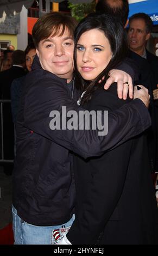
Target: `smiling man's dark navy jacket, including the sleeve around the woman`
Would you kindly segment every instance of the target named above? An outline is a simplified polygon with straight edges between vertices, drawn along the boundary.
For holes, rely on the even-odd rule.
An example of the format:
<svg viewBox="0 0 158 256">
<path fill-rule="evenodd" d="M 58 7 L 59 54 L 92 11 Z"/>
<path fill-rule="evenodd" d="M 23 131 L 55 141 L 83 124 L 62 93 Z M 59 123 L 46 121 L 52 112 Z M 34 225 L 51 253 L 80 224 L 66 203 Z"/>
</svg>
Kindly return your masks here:
<svg viewBox="0 0 158 256">
<path fill-rule="evenodd" d="M 69 150 L 85 158 L 97 156 L 150 125 L 148 110 L 137 99 L 109 113 L 107 136 L 98 136 L 97 130 L 50 130 L 49 114 L 61 112 L 62 106 L 77 113 L 81 109 L 71 99 L 66 80 L 43 70 L 35 57 L 17 116 L 13 173 L 17 214 L 34 225 L 58 225 L 72 216 L 75 190 Z"/>
</svg>

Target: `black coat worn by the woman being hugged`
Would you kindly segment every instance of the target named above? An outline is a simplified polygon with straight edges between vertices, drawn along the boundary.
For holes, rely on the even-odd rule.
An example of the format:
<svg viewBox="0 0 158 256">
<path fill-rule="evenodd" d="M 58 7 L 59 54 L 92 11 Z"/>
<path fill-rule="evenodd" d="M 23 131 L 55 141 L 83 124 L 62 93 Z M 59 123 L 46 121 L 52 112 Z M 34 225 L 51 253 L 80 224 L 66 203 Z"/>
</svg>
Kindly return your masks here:
<svg viewBox="0 0 158 256">
<path fill-rule="evenodd" d="M 124 104 L 113 84 L 108 92 L 97 90 L 84 107 L 112 111 Z M 158 210 L 144 135 L 101 157 L 75 156 L 74 173 L 75 221 L 67 234 L 72 244 L 158 244 Z"/>
</svg>

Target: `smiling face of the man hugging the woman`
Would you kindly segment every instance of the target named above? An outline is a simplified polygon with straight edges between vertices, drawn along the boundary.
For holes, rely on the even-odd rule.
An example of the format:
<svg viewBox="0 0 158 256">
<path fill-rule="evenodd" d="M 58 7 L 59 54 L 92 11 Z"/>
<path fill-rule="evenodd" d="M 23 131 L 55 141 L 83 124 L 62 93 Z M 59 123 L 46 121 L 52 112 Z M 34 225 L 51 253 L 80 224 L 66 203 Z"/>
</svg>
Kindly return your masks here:
<svg viewBox="0 0 158 256">
<path fill-rule="evenodd" d="M 67 28 L 60 36 L 61 31 L 62 27 L 57 35 L 52 36 L 52 33 L 49 38 L 41 40 L 36 53 L 43 69 L 70 82 L 73 76 L 74 41 Z"/>
</svg>

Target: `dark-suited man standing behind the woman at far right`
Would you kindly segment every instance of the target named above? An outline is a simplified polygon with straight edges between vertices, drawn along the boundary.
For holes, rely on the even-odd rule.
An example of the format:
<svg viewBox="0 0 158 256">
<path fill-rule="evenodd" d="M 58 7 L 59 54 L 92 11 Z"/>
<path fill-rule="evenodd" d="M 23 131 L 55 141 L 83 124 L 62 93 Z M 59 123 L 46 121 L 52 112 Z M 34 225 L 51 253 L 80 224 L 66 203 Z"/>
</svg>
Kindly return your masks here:
<svg viewBox="0 0 158 256">
<path fill-rule="evenodd" d="M 129 19 L 128 40 L 130 50 L 146 59 L 150 65 L 151 86 L 154 96 L 154 110 L 156 112 L 155 120 L 157 130 L 157 137 L 154 138 L 155 141 L 157 141 L 157 149 L 155 153 L 156 163 L 154 170 L 158 172 L 158 57 L 150 53 L 146 48 L 147 41 L 151 37 L 152 29 L 153 21 L 150 19 L 150 16 L 145 13 L 136 13 Z M 154 146 L 154 143 L 152 146 Z"/>
</svg>

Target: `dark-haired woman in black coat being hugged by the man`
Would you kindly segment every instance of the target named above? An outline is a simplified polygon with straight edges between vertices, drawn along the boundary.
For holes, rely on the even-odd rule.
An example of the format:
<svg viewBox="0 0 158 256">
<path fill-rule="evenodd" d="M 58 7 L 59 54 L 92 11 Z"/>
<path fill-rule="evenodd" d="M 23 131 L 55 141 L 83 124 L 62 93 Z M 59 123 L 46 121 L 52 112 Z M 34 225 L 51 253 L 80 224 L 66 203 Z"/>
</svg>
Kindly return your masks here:
<svg viewBox="0 0 158 256">
<path fill-rule="evenodd" d="M 121 23 L 110 16 L 90 15 L 79 23 L 74 39 L 76 85 L 83 92 L 79 104 L 89 111 L 123 107 L 130 99 L 118 99 L 115 83 L 108 91 L 103 89 L 109 70 L 127 53 Z M 144 134 L 101 157 L 74 156 L 74 168 L 75 221 L 59 244 L 158 243 L 158 212 Z"/>
</svg>

